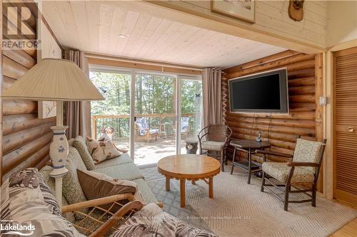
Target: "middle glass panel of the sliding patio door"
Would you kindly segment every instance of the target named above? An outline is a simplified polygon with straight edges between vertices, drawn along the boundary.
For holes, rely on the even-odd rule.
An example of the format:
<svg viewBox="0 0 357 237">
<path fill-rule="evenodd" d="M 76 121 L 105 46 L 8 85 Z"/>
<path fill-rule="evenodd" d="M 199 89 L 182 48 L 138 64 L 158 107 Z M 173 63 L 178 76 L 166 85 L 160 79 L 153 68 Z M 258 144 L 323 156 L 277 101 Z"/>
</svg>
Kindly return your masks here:
<svg viewBox="0 0 357 237">
<path fill-rule="evenodd" d="M 139 165 L 176 154 L 176 77 L 137 73 L 134 156 Z"/>
</svg>

